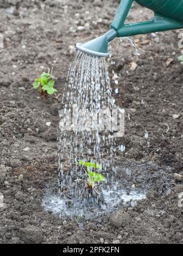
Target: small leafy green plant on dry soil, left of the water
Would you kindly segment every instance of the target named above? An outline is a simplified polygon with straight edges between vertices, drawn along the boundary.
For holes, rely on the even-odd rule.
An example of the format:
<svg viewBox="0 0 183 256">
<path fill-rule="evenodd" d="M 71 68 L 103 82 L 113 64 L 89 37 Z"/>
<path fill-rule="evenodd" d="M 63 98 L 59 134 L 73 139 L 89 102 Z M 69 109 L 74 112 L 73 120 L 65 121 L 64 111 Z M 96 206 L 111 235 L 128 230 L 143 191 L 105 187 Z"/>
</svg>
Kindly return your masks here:
<svg viewBox="0 0 183 256">
<path fill-rule="evenodd" d="M 37 89 L 41 97 L 55 94 L 57 90 L 54 88 L 55 81 L 49 73 L 42 73 L 40 78 L 35 79 L 33 83 L 34 89 Z"/>
</svg>

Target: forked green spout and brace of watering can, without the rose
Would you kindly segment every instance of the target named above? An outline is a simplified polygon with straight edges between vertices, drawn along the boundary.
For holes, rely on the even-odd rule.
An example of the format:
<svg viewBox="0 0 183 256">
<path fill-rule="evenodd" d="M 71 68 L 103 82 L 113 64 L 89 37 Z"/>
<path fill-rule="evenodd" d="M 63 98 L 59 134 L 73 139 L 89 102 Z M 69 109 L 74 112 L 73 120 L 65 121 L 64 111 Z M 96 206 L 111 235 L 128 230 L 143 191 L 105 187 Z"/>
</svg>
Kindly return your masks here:
<svg viewBox="0 0 183 256">
<path fill-rule="evenodd" d="M 166 31 L 183 28 L 183 22 L 165 17 L 159 13 L 154 14 L 154 18 L 149 21 L 142 21 L 131 24 L 124 24 L 127 14 L 131 9 L 134 0 L 121 0 L 111 28 L 115 29 L 118 37 L 135 36 L 151 32 Z"/>
</svg>

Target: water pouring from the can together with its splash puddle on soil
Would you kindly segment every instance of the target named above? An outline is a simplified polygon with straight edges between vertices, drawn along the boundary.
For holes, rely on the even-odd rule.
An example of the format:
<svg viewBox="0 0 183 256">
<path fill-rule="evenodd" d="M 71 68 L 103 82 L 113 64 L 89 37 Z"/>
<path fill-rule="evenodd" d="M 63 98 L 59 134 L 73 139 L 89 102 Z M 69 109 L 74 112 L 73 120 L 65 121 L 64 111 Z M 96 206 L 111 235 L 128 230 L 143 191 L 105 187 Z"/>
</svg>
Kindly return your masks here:
<svg viewBox="0 0 183 256">
<path fill-rule="evenodd" d="M 113 167 L 117 150 L 125 150 L 124 146 L 124 150 L 117 146 L 116 140 L 118 118 L 124 116 L 124 110 L 112 98 L 105 58 L 77 51 L 68 72 L 59 116 L 60 197 L 50 198 L 48 189 L 43 205 L 55 209 L 60 216 L 70 217 L 98 216 L 112 211 L 125 198 L 125 193 L 121 196 L 124 189 L 120 173 L 117 175 Z M 105 181 L 88 189 L 88 170 L 79 165 L 79 160 L 100 165 L 102 168 L 92 171 L 101 173 Z M 115 197 L 117 204 L 112 204 Z"/>
</svg>

